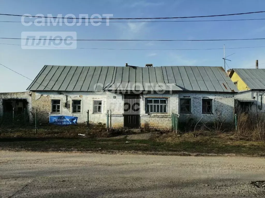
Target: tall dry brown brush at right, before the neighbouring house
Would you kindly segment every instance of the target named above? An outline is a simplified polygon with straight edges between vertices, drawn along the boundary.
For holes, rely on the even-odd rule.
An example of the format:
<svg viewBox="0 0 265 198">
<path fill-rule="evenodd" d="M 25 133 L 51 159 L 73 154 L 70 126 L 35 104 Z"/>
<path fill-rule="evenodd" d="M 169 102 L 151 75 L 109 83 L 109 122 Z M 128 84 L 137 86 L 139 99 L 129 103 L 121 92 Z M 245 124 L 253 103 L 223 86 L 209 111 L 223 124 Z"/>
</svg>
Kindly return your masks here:
<svg viewBox="0 0 265 198">
<path fill-rule="evenodd" d="M 237 130 L 234 136 L 238 138 L 265 141 L 265 115 L 253 113 L 239 113 L 237 118 Z"/>
</svg>

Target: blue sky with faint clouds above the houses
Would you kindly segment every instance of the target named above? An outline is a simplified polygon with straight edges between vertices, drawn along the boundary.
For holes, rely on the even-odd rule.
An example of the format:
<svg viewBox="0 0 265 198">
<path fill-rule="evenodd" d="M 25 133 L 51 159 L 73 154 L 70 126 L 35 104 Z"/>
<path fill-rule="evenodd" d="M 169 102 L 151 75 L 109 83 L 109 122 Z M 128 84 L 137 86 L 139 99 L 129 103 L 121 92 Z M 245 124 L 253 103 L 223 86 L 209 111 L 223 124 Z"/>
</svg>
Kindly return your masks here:
<svg viewBox="0 0 265 198">
<path fill-rule="evenodd" d="M 264 11 L 263 0 L 102 0 L 102 1 L 1 1 L 0 13 L 8 14 L 113 14 L 121 17 L 176 17 L 219 15 Z M 205 19 L 265 18 L 265 13 L 225 16 Z M 0 21 L 20 21 L 20 17 L 0 16 Z M 146 20 L 148 21 L 148 20 Z M 0 23 L 0 37 L 21 37 L 23 31 L 76 31 L 77 39 L 241 39 L 265 37 L 265 20 L 226 22 L 161 22 L 161 23 L 110 23 L 106 26 L 23 26 L 21 23 Z M 20 44 L 20 40 L 0 39 L 0 43 Z M 129 48 L 129 49 L 194 49 L 265 46 L 264 40 L 250 41 L 78 41 L 78 48 Z M 232 62 L 230 68 L 265 63 L 265 48 L 227 49 Z M 34 79 L 43 65 L 124 66 L 125 63 L 144 66 L 196 65 L 223 66 L 223 50 L 162 51 L 162 50 L 90 50 L 45 49 L 25 50 L 21 46 L 0 44 L 0 63 Z M 254 67 L 252 67 L 254 68 Z M 260 65 L 265 68 L 265 64 Z M 25 91 L 30 80 L 0 65 L 0 92 Z"/>
</svg>

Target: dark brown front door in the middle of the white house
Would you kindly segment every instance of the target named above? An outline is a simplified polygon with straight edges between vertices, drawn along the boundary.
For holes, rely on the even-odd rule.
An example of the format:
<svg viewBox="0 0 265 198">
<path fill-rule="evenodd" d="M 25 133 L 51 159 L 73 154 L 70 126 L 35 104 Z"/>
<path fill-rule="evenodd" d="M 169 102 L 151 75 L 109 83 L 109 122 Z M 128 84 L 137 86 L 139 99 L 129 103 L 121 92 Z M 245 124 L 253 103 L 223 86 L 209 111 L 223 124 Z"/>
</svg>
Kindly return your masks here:
<svg viewBox="0 0 265 198">
<path fill-rule="evenodd" d="M 124 126 L 139 128 L 140 101 L 139 95 L 124 96 Z"/>
</svg>

